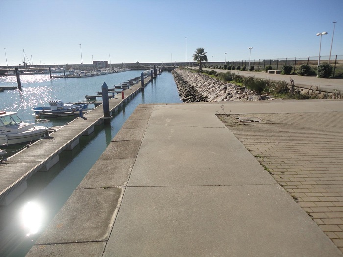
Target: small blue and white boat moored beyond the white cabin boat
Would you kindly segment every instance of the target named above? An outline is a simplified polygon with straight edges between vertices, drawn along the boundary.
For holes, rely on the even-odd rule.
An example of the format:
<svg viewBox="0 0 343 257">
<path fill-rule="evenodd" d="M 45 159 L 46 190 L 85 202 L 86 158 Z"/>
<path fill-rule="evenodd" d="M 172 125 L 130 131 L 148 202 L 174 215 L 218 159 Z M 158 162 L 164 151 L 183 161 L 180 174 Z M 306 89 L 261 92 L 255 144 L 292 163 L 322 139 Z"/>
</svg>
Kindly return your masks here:
<svg viewBox="0 0 343 257">
<path fill-rule="evenodd" d="M 75 112 L 87 109 L 88 103 L 63 103 L 61 100 L 51 100 L 48 102 L 50 106 L 46 107 L 33 107 L 31 110 L 35 114 L 44 114 L 44 113 L 65 113 L 65 112 Z"/>
</svg>

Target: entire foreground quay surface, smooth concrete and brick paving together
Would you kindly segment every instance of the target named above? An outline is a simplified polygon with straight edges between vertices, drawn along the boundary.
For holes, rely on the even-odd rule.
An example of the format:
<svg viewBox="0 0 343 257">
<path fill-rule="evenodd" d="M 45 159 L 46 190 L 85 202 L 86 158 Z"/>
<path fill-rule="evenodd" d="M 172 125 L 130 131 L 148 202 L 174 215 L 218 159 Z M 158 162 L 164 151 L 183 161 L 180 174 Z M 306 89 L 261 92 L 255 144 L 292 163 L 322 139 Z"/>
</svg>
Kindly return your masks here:
<svg viewBox="0 0 343 257">
<path fill-rule="evenodd" d="M 342 114 L 342 100 L 139 105 L 27 257 L 342 257 Z"/>
</svg>

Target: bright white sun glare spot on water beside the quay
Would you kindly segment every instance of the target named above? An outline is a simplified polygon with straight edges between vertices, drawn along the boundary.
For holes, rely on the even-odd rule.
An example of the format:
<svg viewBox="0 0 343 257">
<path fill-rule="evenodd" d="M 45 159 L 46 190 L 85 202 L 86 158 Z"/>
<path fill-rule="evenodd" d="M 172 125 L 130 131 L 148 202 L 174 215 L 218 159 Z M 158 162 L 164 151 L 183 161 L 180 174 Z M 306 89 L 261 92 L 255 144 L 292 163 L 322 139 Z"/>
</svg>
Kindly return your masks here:
<svg viewBox="0 0 343 257">
<path fill-rule="evenodd" d="M 20 223 L 26 236 L 36 234 L 43 224 L 43 208 L 35 202 L 28 202 L 20 211 Z"/>
</svg>

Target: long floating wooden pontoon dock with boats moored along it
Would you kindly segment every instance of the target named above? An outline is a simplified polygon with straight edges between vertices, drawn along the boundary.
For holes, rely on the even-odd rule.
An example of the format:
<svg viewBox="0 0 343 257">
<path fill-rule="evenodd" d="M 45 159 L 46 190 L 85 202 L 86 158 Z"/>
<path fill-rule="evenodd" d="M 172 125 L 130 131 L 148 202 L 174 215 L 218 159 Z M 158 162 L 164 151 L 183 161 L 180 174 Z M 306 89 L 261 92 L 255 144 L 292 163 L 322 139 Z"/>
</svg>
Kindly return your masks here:
<svg viewBox="0 0 343 257">
<path fill-rule="evenodd" d="M 144 79 L 144 86 L 151 78 Z M 101 85 L 99 85 L 101 87 Z M 126 91 L 125 99 L 115 97 L 109 100 L 110 113 L 118 110 L 123 103 L 132 99 L 141 91 L 141 82 Z M 95 96 L 95 98 L 98 96 Z M 79 138 L 90 135 L 94 126 L 104 122 L 103 108 L 98 106 L 85 113 L 83 118 L 76 118 L 48 137 L 38 140 L 29 148 L 11 156 L 0 164 L 0 205 L 8 205 L 27 188 L 26 180 L 37 171 L 47 171 L 59 161 L 59 154 L 72 150 Z"/>
</svg>

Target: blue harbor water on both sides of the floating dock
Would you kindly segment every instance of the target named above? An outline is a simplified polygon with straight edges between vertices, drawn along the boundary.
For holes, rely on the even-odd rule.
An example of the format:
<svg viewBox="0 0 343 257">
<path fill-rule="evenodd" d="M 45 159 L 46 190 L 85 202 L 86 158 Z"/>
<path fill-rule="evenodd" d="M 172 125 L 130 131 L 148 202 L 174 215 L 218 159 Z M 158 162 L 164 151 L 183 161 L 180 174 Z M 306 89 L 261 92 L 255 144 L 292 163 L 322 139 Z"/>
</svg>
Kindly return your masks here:
<svg viewBox="0 0 343 257">
<path fill-rule="evenodd" d="M 101 91 L 140 76 L 142 71 L 126 71 L 97 77 L 50 79 L 49 75 L 21 76 L 22 90 L 0 92 L 0 110 L 16 111 L 22 120 L 33 119 L 32 107 L 48 106 L 50 99 L 77 102 L 85 95 Z M 16 77 L 0 77 L 0 88 L 16 86 Z M 101 99 L 101 98 L 99 98 Z M 0 256 L 25 256 L 74 189 L 98 160 L 112 138 L 137 105 L 181 103 L 172 73 L 163 72 L 145 90 L 121 107 L 110 125 L 95 127 L 90 136 L 80 138 L 72 151 L 60 154 L 60 162 L 47 172 L 37 172 L 27 180 L 26 191 L 8 206 L 0 206 Z M 101 108 L 101 107 L 100 107 Z M 71 118 L 50 119 L 50 126 L 63 125 Z M 7 150 L 6 150 L 7 151 Z M 1 165 L 0 165 L 1 171 Z"/>
</svg>

